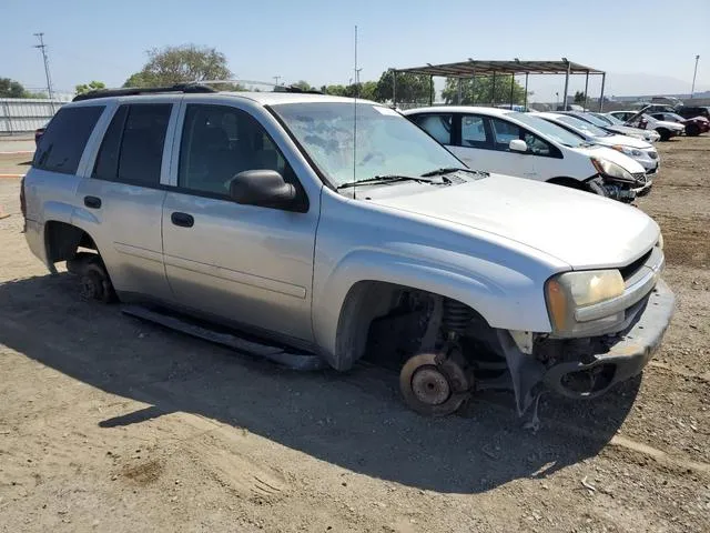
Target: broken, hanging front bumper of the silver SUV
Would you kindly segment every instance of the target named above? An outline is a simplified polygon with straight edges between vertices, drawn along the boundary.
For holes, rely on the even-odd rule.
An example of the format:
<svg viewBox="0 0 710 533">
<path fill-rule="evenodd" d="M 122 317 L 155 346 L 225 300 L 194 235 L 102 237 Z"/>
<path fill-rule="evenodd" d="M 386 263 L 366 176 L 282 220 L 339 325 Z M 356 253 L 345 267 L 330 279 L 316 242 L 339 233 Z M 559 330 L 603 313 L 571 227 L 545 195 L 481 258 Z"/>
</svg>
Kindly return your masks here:
<svg viewBox="0 0 710 533">
<path fill-rule="evenodd" d="M 576 361 L 549 366 L 542 382 L 567 398 L 595 398 L 611 386 L 641 373 L 668 329 L 676 298 L 668 285 L 658 280 L 649 298 L 641 303 L 635 320 L 622 332 L 589 343 Z"/>
</svg>

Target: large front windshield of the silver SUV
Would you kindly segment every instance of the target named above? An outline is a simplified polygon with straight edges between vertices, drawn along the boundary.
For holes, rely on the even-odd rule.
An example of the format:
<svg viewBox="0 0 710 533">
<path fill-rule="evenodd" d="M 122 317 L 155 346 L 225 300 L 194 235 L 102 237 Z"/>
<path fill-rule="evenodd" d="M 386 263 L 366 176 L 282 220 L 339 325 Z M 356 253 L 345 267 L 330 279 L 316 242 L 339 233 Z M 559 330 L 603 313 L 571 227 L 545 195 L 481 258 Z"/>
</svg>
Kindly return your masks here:
<svg viewBox="0 0 710 533">
<path fill-rule="evenodd" d="M 354 112 L 357 105 L 357 143 Z M 336 187 L 375 177 L 420 177 L 464 164 L 396 111 L 372 103 L 274 104 L 274 111 Z M 355 161 L 355 164 L 353 164 Z"/>
</svg>

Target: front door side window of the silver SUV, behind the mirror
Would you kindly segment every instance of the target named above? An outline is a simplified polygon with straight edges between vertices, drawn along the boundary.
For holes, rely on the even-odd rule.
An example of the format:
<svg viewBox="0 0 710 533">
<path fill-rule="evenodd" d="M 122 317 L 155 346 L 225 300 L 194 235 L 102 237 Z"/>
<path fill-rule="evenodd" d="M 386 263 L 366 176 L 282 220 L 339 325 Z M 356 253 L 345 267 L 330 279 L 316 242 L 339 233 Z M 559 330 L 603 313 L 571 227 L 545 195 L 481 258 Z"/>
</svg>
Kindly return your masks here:
<svg viewBox="0 0 710 533">
<path fill-rule="evenodd" d="M 295 184 L 293 171 L 262 125 L 225 105 L 187 105 L 180 147 L 178 185 L 226 195 L 245 170 L 275 170 Z"/>
</svg>

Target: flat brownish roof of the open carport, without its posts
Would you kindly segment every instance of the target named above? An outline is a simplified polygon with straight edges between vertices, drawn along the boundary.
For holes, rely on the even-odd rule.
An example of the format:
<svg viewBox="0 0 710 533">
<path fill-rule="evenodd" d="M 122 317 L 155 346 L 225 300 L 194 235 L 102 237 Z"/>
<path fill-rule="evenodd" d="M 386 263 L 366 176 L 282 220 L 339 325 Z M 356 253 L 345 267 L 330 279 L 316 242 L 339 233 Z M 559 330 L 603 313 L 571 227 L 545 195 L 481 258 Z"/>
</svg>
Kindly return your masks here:
<svg viewBox="0 0 710 533">
<path fill-rule="evenodd" d="M 469 59 L 458 63 L 429 64 L 409 69 L 395 69 L 396 72 L 412 74 L 443 76 L 448 78 L 470 78 L 473 76 L 496 74 L 565 74 L 567 66 L 572 74 L 604 74 L 598 70 L 572 61 L 479 61 Z"/>
</svg>

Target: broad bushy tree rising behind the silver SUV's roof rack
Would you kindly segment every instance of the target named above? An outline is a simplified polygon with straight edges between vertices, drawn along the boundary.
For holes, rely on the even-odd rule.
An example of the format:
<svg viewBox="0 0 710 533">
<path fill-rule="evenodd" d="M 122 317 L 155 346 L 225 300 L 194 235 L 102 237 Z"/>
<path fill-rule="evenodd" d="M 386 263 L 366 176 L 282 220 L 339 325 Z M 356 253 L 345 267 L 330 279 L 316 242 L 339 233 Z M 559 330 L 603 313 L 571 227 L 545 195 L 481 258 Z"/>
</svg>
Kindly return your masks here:
<svg viewBox="0 0 710 533">
<path fill-rule="evenodd" d="M 165 87 L 206 80 L 229 80 L 226 56 L 214 48 L 183 44 L 146 51 L 148 62 L 123 87 Z M 223 89 L 223 84 L 220 84 Z"/>
</svg>

